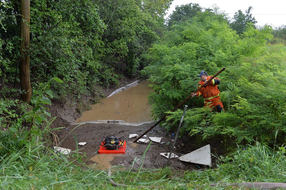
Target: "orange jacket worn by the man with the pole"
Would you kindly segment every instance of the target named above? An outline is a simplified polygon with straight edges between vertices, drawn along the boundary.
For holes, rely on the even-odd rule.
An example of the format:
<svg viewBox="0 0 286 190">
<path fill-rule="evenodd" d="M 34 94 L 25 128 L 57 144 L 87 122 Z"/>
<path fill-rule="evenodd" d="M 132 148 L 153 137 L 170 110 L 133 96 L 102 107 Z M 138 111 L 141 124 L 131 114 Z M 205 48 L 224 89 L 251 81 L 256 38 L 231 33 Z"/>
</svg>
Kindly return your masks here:
<svg viewBox="0 0 286 190">
<path fill-rule="evenodd" d="M 212 76 L 207 77 L 206 80 L 209 80 L 211 77 Z M 214 78 L 211 82 L 209 82 L 208 85 L 206 85 L 206 87 L 201 88 L 197 92 L 197 97 L 202 95 L 204 100 L 210 100 L 210 99 L 218 97 L 219 96 L 219 90 L 218 90 L 217 85 L 219 83 L 220 83 L 219 78 Z M 204 82 L 200 80 L 198 88 L 203 84 L 204 84 Z"/>
</svg>

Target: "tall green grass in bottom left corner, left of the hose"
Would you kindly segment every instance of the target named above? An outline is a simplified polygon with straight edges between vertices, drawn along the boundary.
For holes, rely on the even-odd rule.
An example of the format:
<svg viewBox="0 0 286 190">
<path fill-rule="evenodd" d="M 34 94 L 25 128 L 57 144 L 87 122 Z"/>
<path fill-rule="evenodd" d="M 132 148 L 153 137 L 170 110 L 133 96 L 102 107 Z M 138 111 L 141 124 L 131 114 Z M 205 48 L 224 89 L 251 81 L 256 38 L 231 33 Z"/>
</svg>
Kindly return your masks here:
<svg viewBox="0 0 286 190">
<path fill-rule="evenodd" d="M 0 157 L 1 189 L 106 189 L 105 172 L 93 171 L 76 161 L 43 144 L 26 146 Z"/>
</svg>

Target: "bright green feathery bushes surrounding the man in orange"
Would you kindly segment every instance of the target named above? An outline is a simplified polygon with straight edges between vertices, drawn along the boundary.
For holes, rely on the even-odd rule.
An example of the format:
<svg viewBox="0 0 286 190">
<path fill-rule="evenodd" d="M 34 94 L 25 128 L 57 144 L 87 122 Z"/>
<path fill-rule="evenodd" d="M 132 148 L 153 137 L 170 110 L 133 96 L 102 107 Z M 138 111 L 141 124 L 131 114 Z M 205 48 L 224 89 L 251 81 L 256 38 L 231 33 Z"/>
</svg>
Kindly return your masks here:
<svg viewBox="0 0 286 190">
<path fill-rule="evenodd" d="M 285 48 L 265 46 L 272 39 L 271 27 L 260 30 L 250 23 L 238 36 L 224 15 L 206 11 L 172 26 L 162 42 L 150 48 L 149 75 L 153 92 L 149 95 L 153 115 L 169 113 L 162 126 L 178 126 L 182 110 L 168 112 L 197 88 L 195 76 L 206 70 L 210 75 L 222 67 L 220 96 L 224 112 L 212 113 L 202 107 L 202 99 L 192 98 L 182 127 L 190 135 L 203 139 L 223 137 L 237 143 L 252 139 L 283 144 L 285 139 Z M 211 119 L 206 123 L 207 119 Z M 207 126 L 207 127 L 206 127 Z"/>
</svg>

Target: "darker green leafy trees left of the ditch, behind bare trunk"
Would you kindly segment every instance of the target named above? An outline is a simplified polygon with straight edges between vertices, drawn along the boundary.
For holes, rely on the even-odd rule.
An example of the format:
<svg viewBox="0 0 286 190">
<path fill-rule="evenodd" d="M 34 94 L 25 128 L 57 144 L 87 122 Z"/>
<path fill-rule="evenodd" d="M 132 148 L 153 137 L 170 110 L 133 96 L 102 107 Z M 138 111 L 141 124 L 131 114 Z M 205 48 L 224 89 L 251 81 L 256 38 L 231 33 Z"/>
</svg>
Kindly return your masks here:
<svg viewBox="0 0 286 190">
<path fill-rule="evenodd" d="M 32 86 L 54 76 L 56 97 L 80 98 L 95 85 L 118 84 L 149 63 L 147 49 L 161 32 L 170 0 L 31 1 L 30 78 Z M 0 83 L 18 83 L 20 8 L 0 5 Z M 9 31 L 9 32 L 7 32 Z"/>
</svg>

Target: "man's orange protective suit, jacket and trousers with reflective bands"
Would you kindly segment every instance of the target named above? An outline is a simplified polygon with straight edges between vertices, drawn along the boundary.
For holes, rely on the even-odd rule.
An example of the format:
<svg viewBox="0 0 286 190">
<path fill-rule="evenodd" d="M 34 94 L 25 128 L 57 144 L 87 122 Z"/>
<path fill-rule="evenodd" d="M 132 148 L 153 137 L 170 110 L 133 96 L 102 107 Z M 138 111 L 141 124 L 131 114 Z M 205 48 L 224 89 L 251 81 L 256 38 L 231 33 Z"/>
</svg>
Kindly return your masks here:
<svg viewBox="0 0 286 190">
<path fill-rule="evenodd" d="M 207 77 L 207 80 L 209 80 L 212 76 Z M 204 104 L 207 106 L 208 102 L 211 102 L 208 106 L 212 108 L 213 106 L 218 106 L 220 105 L 223 108 L 223 103 L 220 101 L 220 96 L 219 96 L 219 90 L 218 90 L 218 84 L 220 83 L 219 78 L 214 78 L 209 84 L 206 85 L 206 87 L 201 88 L 197 92 L 197 97 L 203 96 L 204 99 Z M 203 85 L 203 81 L 199 81 L 199 86 L 198 88 Z M 217 109 L 217 107 L 216 107 Z"/>
</svg>

